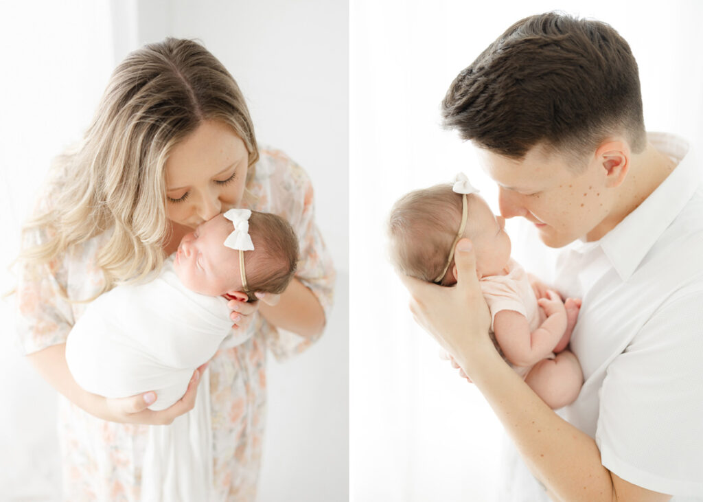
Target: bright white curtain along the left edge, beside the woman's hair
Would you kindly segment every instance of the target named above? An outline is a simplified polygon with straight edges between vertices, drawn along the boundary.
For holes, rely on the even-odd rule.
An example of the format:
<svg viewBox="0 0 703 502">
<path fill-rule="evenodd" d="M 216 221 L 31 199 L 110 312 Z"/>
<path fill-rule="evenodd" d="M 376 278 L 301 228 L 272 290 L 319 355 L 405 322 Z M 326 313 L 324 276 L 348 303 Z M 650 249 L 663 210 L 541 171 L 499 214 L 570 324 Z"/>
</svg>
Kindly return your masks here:
<svg viewBox="0 0 703 502">
<path fill-rule="evenodd" d="M 19 222 L 51 159 L 77 141 L 108 82 L 112 27 L 107 0 L 7 2 L 0 20 L 0 295 L 13 287 Z M 60 500 L 56 392 L 14 343 L 13 297 L 0 302 L 0 494 Z"/>
</svg>

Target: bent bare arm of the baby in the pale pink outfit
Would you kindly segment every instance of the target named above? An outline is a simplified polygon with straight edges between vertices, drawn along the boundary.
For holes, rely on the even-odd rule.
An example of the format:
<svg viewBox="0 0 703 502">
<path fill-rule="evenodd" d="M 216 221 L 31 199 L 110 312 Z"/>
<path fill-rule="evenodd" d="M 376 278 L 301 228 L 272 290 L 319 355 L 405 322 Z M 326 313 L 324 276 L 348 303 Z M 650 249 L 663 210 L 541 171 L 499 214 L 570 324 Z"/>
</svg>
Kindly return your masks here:
<svg viewBox="0 0 703 502">
<path fill-rule="evenodd" d="M 516 366 L 532 366 L 553 351 L 567 328 L 567 312 L 561 298 L 548 292 L 549 298 L 538 300 L 547 314 L 545 321 L 529 331 L 527 318 L 514 310 L 501 310 L 494 317 L 496 341 L 503 354 Z"/>
</svg>

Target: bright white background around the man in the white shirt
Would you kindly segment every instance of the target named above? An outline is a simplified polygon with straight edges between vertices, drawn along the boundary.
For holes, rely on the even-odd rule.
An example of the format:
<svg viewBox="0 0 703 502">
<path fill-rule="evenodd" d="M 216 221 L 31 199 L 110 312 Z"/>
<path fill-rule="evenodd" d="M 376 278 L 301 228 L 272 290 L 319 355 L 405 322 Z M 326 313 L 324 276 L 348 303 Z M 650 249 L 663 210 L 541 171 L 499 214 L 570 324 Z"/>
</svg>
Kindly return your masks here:
<svg viewBox="0 0 703 502">
<path fill-rule="evenodd" d="M 385 221 L 400 195 L 464 171 L 494 211 L 472 147 L 439 127 L 454 77 L 513 22 L 560 9 L 609 22 L 640 67 L 645 125 L 703 143 L 697 1 L 355 0 L 350 8 L 350 494 L 358 502 L 496 501 L 501 426 L 437 357 L 387 261 Z M 513 256 L 541 272 L 551 250 Z M 534 240 L 532 241 L 534 245 Z"/>
</svg>

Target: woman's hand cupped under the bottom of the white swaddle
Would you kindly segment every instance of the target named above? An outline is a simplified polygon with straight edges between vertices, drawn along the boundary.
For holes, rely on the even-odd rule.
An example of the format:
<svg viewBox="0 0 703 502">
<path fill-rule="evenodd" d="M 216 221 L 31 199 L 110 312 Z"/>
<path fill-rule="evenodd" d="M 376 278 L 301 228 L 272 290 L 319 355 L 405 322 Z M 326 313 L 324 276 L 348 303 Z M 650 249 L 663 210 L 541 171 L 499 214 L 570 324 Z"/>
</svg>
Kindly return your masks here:
<svg viewBox="0 0 703 502">
<path fill-rule="evenodd" d="M 188 413 L 195 406 L 195 396 L 198 394 L 198 383 L 200 376 L 205 372 L 207 363 L 198 367 L 193 372 L 193 378 L 188 383 L 188 389 L 183 397 L 176 401 L 172 406 L 161 411 L 152 411 L 148 406 L 154 404 L 156 399 L 155 392 L 145 392 L 132 397 L 123 397 L 120 399 L 108 399 L 101 396 L 96 396 L 96 399 L 104 400 L 106 413 L 97 414 L 103 420 L 119 423 L 136 423 L 146 425 L 168 425 L 183 413 Z M 95 394 L 93 394 L 95 395 Z M 151 397 L 148 401 L 147 399 Z M 91 413 L 90 409 L 86 409 Z"/>
</svg>

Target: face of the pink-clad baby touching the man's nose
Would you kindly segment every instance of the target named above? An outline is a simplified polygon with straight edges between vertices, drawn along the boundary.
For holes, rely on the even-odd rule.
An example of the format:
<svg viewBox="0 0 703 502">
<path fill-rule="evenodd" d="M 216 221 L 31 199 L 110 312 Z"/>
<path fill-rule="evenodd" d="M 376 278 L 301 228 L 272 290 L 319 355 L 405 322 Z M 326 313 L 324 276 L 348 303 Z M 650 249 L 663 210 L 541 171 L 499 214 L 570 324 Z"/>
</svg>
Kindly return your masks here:
<svg viewBox="0 0 703 502">
<path fill-rule="evenodd" d="M 471 239 L 480 276 L 503 273 L 510 259 L 510 237 L 505 233 L 505 218 L 496 217 L 478 195 L 469 197 L 469 221 L 465 236 Z"/>
</svg>

